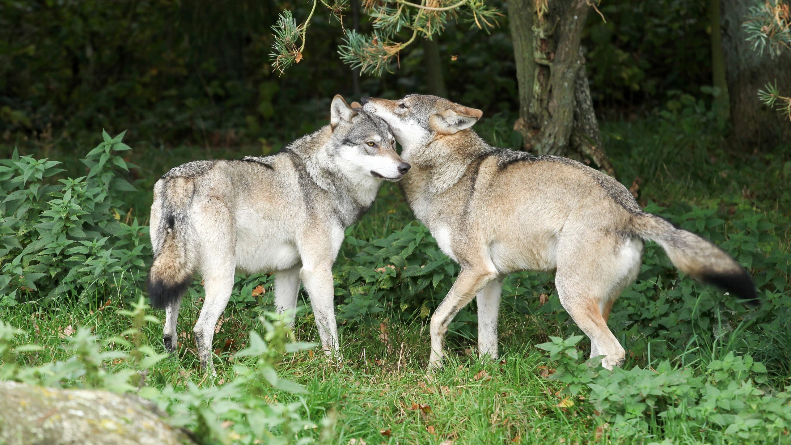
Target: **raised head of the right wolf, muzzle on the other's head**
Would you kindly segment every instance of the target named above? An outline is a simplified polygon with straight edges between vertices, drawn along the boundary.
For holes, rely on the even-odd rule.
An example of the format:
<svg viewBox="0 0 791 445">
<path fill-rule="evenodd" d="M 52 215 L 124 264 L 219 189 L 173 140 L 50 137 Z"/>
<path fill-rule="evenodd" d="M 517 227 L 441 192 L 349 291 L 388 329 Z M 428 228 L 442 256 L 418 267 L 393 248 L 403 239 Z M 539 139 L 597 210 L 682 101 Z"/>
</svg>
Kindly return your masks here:
<svg viewBox="0 0 791 445">
<path fill-rule="evenodd" d="M 362 109 L 387 122 L 404 150 L 428 145 L 438 137 L 455 135 L 472 127 L 483 116 L 479 109 L 422 94 L 410 94 L 398 101 L 377 97 L 363 97 L 360 101 Z"/>
</svg>

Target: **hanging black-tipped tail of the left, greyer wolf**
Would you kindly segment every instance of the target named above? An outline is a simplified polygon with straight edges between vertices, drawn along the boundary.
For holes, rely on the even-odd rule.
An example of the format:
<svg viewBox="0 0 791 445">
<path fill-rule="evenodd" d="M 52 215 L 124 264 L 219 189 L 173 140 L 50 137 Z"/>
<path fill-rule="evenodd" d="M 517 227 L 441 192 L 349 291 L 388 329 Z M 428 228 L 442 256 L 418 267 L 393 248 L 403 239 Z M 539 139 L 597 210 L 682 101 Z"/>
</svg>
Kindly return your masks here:
<svg viewBox="0 0 791 445">
<path fill-rule="evenodd" d="M 193 188 L 193 181 L 184 177 L 161 179 L 154 186 L 153 263 L 146 281 L 151 306 L 156 309 L 180 299 L 195 272 L 197 249 L 190 217 Z"/>
</svg>

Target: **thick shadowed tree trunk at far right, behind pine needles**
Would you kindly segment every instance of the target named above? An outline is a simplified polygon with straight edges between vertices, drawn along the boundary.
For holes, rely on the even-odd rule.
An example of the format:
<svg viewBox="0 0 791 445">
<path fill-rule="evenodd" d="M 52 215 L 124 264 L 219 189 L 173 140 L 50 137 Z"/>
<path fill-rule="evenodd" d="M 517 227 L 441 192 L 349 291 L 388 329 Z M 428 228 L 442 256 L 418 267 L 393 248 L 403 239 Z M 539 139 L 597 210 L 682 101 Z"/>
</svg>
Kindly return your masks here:
<svg viewBox="0 0 791 445">
<path fill-rule="evenodd" d="M 791 50 L 770 57 L 759 55 L 753 41 L 747 41 L 742 24 L 747 21 L 754 2 L 722 0 L 722 49 L 725 52 L 725 76 L 731 105 L 731 139 L 736 146 L 759 149 L 791 141 L 791 122 L 781 113 L 763 105 L 758 90 L 767 82 L 777 82 L 783 96 L 791 93 Z"/>
</svg>

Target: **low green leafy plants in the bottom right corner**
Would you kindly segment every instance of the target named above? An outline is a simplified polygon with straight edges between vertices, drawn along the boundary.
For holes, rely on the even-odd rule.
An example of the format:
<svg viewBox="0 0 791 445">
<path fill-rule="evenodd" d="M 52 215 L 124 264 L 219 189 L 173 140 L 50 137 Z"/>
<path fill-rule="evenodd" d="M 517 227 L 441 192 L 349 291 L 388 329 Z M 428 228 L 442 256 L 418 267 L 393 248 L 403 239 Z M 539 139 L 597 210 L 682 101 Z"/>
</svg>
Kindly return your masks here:
<svg viewBox="0 0 791 445">
<path fill-rule="evenodd" d="M 722 443 L 772 443 L 789 434 L 791 392 L 762 389 L 766 367 L 749 355 L 729 352 L 697 369 L 664 360 L 656 369 L 607 371 L 593 359 L 580 362 L 579 340 L 551 337 L 538 347 L 558 363 L 550 378 L 566 383 L 572 394 L 589 389 L 586 398 L 612 438 L 648 438 L 652 432 L 672 438 L 672 424 L 685 424 L 703 442 L 714 435 Z"/>
</svg>

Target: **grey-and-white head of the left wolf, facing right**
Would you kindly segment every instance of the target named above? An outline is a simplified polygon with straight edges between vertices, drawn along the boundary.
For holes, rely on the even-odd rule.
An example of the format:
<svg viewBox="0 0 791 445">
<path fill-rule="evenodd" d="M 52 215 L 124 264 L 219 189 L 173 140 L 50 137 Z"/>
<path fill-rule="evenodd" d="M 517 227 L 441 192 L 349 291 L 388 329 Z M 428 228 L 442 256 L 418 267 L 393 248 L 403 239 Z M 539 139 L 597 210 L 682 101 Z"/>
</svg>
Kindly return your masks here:
<svg viewBox="0 0 791 445">
<path fill-rule="evenodd" d="M 340 95 L 330 105 L 331 145 L 341 169 L 351 176 L 398 181 L 410 165 L 395 152 L 395 139 L 375 114 Z"/>
</svg>

